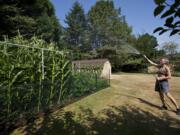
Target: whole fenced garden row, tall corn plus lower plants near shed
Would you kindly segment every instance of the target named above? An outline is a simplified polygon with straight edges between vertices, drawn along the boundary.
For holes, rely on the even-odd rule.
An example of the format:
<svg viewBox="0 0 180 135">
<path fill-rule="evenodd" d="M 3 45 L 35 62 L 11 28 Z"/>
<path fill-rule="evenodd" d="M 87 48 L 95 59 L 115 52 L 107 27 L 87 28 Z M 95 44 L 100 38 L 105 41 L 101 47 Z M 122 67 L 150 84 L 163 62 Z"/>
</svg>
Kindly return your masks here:
<svg viewBox="0 0 180 135">
<path fill-rule="evenodd" d="M 0 130 L 106 87 L 101 68 L 72 71 L 68 52 L 33 37 L 0 42 Z"/>
</svg>

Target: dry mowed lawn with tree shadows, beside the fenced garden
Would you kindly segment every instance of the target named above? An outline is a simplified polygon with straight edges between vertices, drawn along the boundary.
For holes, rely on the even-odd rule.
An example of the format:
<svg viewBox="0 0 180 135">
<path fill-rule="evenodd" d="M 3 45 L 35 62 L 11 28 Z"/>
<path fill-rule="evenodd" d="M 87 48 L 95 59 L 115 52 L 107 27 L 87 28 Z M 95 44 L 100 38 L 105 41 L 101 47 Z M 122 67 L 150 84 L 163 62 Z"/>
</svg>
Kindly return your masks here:
<svg viewBox="0 0 180 135">
<path fill-rule="evenodd" d="M 114 74 L 111 87 L 91 94 L 12 135 L 180 135 L 180 116 L 166 99 L 160 109 L 154 76 Z M 171 93 L 180 105 L 180 78 L 170 80 Z"/>
</svg>

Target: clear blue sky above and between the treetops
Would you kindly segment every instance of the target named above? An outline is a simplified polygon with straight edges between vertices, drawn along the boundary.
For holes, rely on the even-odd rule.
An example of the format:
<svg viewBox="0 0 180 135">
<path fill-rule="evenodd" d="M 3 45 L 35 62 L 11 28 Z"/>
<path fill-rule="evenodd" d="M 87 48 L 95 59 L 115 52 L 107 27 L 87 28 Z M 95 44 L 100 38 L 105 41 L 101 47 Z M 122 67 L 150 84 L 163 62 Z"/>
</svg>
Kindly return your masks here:
<svg viewBox="0 0 180 135">
<path fill-rule="evenodd" d="M 56 11 L 56 16 L 62 26 L 66 27 L 64 22 L 65 16 L 68 14 L 75 1 L 78 1 L 85 10 L 85 13 L 96 3 L 97 0 L 51 0 Z M 153 34 L 156 27 L 162 26 L 164 20 L 153 16 L 155 4 L 153 0 L 114 0 L 116 8 L 121 8 L 122 15 L 125 16 L 129 26 L 133 28 L 133 34 L 138 36 L 143 33 L 149 33 L 155 36 L 159 43 L 159 48 L 165 42 L 176 42 L 180 51 L 180 36 L 171 36 L 169 33 L 163 35 Z"/>
</svg>

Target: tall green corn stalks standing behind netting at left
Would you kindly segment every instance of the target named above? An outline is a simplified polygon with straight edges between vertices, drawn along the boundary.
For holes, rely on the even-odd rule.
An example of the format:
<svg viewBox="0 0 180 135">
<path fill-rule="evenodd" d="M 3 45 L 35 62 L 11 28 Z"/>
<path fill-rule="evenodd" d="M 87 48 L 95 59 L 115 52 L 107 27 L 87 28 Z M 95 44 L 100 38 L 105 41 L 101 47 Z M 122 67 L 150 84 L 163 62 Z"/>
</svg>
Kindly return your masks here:
<svg viewBox="0 0 180 135">
<path fill-rule="evenodd" d="M 37 113 L 63 100 L 70 61 L 55 49 L 35 37 L 27 41 L 20 35 L 0 43 L 0 114 L 18 118 L 21 113 Z"/>
</svg>

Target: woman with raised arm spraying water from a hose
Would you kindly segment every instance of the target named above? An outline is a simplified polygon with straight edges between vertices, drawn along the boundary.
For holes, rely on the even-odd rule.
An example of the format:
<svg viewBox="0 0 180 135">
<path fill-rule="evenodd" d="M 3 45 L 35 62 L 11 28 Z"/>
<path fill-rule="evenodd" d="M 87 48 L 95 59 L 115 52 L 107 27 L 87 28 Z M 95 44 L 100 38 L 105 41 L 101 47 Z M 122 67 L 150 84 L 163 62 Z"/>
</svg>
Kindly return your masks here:
<svg viewBox="0 0 180 135">
<path fill-rule="evenodd" d="M 144 55 L 144 58 L 152 65 L 156 66 L 158 68 L 157 75 L 156 75 L 156 84 L 155 84 L 155 91 L 159 92 L 160 99 L 162 101 L 162 109 L 167 110 L 167 106 L 165 104 L 164 95 L 166 95 L 170 101 L 174 104 L 176 107 L 176 114 L 180 115 L 180 109 L 176 102 L 176 100 L 173 98 L 173 96 L 169 93 L 169 82 L 168 80 L 171 79 L 171 71 L 168 66 L 169 60 L 168 59 L 161 59 L 159 64 L 156 64 L 152 62 L 150 59 Z"/>
</svg>

